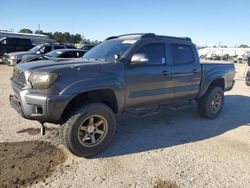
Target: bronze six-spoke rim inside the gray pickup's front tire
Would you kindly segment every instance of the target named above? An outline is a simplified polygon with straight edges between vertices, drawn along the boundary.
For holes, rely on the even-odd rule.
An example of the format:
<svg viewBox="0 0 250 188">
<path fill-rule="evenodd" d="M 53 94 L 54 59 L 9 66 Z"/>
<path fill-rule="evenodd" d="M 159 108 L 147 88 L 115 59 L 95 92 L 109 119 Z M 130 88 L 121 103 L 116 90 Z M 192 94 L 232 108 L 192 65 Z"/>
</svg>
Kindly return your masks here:
<svg viewBox="0 0 250 188">
<path fill-rule="evenodd" d="M 108 123 L 101 115 L 92 115 L 83 120 L 78 130 L 78 140 L 85 147 L 100 144 L 108 131 Z"/>
</svg>

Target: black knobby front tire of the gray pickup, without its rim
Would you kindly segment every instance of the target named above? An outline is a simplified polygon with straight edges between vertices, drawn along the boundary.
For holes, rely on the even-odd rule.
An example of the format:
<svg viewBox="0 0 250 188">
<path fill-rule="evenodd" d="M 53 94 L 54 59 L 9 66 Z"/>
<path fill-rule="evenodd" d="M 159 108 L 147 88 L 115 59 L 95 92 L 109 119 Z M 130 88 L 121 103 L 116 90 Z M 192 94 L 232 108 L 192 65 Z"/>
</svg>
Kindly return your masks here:
<svg viewBox="0 0 250 188">
<path fill-rule="evenodd" d="M 107 122 L 107 131 L 103 140 L 96 146 L 86 147 L 79 139 L 79 129 L 84 119 L 99 115 Z M 89 157 L 103 151 L 112 141 L 116 131 L 116 120 L 113 111 L 105 104 L 90 103 L 82 107 L 76 107 L 68 116 L 67 121 L 61 125 L 60 135 L 65 147 L 74 155 L 79 157 Z"/>
</svg>

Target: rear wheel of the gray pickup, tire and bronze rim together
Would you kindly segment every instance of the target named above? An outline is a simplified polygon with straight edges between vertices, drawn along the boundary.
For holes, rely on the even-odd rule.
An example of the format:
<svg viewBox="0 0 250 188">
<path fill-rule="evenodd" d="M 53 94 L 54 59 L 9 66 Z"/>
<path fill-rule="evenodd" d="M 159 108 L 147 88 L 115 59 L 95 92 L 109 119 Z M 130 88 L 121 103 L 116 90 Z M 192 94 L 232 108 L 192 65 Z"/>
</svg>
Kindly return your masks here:
<svg viewBox="0 0 250 188">
<path fill-rule="evenodd" d="M 216 118 L 224 105 L 224 91 L 221 87 L 210 87 L 198 102 L 198 112 L 209 119 Z"/>
</svg>

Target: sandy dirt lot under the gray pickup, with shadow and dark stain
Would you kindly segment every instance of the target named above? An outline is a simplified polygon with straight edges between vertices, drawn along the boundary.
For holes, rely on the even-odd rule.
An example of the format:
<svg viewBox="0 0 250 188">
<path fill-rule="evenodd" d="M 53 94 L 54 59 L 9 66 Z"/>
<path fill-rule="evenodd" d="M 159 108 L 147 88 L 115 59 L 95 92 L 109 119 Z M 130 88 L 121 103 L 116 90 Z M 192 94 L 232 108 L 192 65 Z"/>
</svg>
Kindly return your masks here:
<svg viewBox="0 0 250 188">
<path fill-rule="evenodd" d="M 0 65 L 0 187 L 250 187 L 250 87 L 236 68 L 219 118 L 201 118 L 195 105 L 123 116 L 110 147 L 84 159 L 64 149 L 57 126 L 41 136 L 10 108 L 12 68 Z"/>
</svg>

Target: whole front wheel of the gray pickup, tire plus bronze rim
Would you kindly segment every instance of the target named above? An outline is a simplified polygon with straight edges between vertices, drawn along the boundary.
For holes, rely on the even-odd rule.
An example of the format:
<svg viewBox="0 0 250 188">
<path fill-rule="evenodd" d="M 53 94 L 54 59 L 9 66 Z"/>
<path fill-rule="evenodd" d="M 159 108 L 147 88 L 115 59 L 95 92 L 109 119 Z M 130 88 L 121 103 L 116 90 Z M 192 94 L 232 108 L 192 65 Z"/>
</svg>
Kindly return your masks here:
<svg viewBox="0 0 250 188">
<path fill-rule="evenodd" d="M 89 157 L 110 144 L 116 130 L 116 121 L 108 106 L 91 103 L 75 109 L 61 126 L 61 136 L 69 151 L 76 156 Z"/>
</svg>

